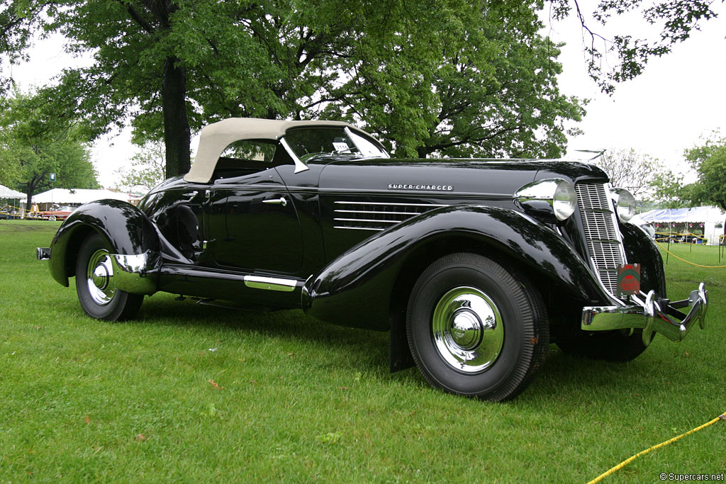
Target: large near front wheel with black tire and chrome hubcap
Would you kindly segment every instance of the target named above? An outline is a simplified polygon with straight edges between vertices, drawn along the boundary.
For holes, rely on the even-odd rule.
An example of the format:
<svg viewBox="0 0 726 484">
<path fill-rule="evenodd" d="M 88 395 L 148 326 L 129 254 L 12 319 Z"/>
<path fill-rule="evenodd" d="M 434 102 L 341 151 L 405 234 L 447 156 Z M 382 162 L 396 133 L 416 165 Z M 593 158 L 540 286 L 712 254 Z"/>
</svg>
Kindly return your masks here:
<svg viewBox="0 0 726 484">
<path fill-rule="evenodd" d="M 547 355 L 542 297 L 489 258 L 446 255 L 409 299 L 406 329 L 418 369 L 448 393 L 504 401 L 521 393 Z"/>
</svg>

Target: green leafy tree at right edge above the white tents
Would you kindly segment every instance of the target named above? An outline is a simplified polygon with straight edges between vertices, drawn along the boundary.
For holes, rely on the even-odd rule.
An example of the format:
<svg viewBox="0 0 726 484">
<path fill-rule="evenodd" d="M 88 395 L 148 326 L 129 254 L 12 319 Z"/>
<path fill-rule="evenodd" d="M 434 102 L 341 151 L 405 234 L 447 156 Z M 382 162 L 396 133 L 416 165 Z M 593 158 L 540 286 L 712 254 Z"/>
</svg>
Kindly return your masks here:
<svg viewBox="0 0 726 484">
<path fill-rule="evenodd" d="M 702 146 L 687 149 L 685 159 L 698 173 L 698 181 L 686 186 L 688 199 L 726 210 L 726 138 L 707 139 Z"/>
</svg>

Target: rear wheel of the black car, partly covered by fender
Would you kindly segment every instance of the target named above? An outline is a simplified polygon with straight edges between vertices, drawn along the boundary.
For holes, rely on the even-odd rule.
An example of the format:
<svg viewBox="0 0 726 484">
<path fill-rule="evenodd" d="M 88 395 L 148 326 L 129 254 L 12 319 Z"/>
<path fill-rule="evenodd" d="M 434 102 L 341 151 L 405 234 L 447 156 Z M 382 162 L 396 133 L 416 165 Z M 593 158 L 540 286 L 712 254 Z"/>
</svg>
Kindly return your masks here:
<svg viewBox="0 0 726 484">
<path fill-rule="evenodd" d="M 83 311 L 105 321 L 131 319 L 144 302 L 143 295 L 116 288 L 111 255 L 99 234 L 88 237 L 78 252 L 76 290 Z"/>
</svg>

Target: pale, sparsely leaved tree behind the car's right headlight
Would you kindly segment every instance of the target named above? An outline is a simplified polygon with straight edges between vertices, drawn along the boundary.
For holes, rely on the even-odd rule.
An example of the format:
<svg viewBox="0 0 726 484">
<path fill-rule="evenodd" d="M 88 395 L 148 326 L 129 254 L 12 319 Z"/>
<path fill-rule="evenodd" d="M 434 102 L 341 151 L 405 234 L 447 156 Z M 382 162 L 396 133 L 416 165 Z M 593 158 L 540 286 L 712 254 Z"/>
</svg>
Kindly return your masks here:
<svg viewBox="0 0 726 484">
<path fill-rule="evenodd" d="M 663 165 L 650 155 L 635 149 L 608 149 L 592 163 L 603 168 L 610 176 L 611 186 L 627 189 L 637 198 L 652 189 L 653 177 L 664 170 Z"/>
</svg>

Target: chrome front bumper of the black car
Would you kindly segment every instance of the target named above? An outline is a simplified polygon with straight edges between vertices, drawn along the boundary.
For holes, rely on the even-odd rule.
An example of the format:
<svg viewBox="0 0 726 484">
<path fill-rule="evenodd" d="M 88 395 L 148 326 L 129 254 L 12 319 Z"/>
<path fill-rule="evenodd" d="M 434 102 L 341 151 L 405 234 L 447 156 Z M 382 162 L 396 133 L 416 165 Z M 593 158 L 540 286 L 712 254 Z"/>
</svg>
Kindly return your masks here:
<svg viewBox="0 0 726 484">
<path fill-rule="evenodd" d="M 582 308 L 583 331 L 611 331 L 613 329 L 643 329 L 643 343 L 648 346 L 653 332 L 664 335 L 671 341 L 682 341 L 698 321 L 703 329 L 709 300 L 708 291 L 701 282 L 697 290 L 691 291 L 688 299 L 670 302 L 656 298 L 654 291 L 648 292 L 645 300 L 630 296 L 631 305 L 586 306 Z M 688 314 L 679 311 L 688 307 Z"/>
</svg>

